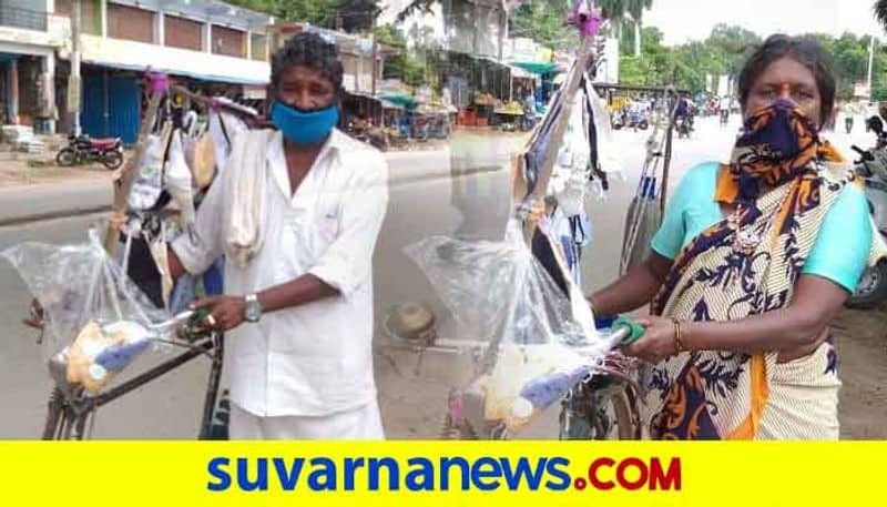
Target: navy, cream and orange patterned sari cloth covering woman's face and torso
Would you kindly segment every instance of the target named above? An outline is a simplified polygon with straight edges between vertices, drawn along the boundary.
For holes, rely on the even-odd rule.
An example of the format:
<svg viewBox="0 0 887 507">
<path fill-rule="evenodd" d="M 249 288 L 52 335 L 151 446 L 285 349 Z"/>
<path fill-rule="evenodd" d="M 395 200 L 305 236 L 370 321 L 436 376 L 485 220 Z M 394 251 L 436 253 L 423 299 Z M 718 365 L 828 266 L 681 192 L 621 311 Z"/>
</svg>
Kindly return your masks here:
<svg viewBox="0 0 887 507">
<path fill-rule="evenodd" d="M 855 178 L 847 165 L 838 166 L 837 181 L 823 178 L 827 163 L 842 161 L 791 102 L 777 101 L 750 116 L 731 163 L 721 168 L 713 196 L 735 211 L 677 255 L 653 300 L 653 313 L 682 321 L 733 321 L 788 306 L 826 212 Z M 822 364 L 805 374 L 814 385 L 837 382 L 829 366 L 834 349 L 827 347 L 818 351 Z M 653 366 L 645 381 L 650 436 L 720 439 L 766 434 L 761 432 L 764 407 L 773 383 L 783 382 L 777 357 L 776 351 L 694 351 Z M 798 426 L 766 424 L 789 427 L 788 434 Z"/>
</svg>

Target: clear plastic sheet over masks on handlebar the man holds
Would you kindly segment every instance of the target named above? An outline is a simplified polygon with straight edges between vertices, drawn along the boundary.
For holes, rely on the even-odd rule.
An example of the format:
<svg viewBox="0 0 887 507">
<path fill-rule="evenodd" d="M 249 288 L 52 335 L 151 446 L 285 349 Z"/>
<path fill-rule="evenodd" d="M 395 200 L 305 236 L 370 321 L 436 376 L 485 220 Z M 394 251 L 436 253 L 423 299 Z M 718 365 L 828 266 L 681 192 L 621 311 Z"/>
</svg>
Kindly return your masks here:
<svg viewBox="0 0 887 507">
<path fill-rule="evenodd" d="M 77 245 L 26 242 L 0 253 L 43 307 L 43 353 L 60 387 L 96 394 L 159 338 L 156 308 L 105 253 L 98 231 Z"/>
</svg>

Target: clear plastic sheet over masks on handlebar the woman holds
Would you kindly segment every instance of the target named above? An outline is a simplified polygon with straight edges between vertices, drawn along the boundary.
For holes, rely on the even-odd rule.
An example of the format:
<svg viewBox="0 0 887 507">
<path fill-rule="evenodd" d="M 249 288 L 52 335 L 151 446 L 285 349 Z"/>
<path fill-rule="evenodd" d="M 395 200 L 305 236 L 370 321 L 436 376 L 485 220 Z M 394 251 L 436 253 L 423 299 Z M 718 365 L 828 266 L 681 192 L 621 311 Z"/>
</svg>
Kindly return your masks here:
<svg viewBox="0 0 887 507">
<path fill-rule="evenodd" d="M 609 352 L 584 298 L 563 295 L 516 220 L 501 242 L 432 236 L 406 253 L 465 329 L 462 338 L 485 349 L 480 375 L 462 392 L 475 428 L 519 432 Z"/>
</svg>

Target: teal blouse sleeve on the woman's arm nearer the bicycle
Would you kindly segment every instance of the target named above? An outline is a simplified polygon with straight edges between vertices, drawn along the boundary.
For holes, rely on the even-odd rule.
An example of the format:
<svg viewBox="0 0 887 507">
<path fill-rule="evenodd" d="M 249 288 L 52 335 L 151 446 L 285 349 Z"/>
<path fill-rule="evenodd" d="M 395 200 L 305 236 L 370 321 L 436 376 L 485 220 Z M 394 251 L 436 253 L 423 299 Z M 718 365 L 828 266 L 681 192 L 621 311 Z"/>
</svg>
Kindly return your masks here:
<svg viewBox="0 0 887 507">
<path fill-rule="evenodd" d="M 669 197 L 665 215 L 650 246 L 657 254 L 674 258 L 689 240 L 716 223 L 720 209 L 713 202 L 717 162 L 690 169 Z"/>
</svg>

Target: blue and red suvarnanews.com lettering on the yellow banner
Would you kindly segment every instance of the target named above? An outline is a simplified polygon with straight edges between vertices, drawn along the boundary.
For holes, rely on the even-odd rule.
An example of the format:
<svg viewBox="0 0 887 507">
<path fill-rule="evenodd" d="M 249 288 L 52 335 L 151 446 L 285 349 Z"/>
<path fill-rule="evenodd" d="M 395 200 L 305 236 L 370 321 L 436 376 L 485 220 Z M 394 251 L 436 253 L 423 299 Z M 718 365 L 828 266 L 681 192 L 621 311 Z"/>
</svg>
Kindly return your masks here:
<svg viewBox="0 0 887 507">
<path fill-rule="evenodd" d="M 681 490 L 681 458 L 215 457 L 210 491 Z"/>
</svg>

